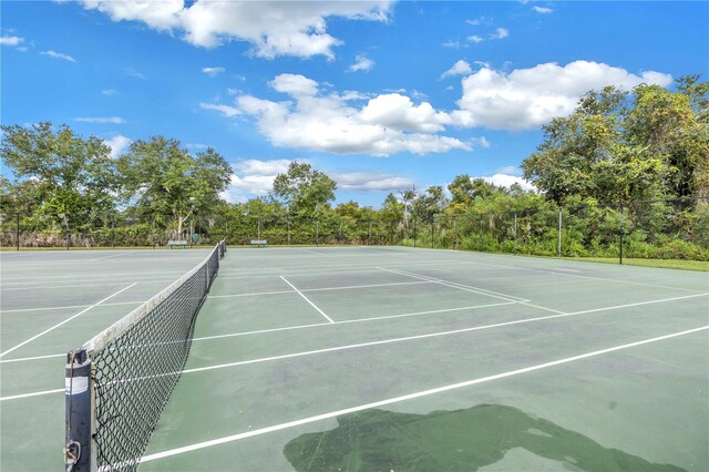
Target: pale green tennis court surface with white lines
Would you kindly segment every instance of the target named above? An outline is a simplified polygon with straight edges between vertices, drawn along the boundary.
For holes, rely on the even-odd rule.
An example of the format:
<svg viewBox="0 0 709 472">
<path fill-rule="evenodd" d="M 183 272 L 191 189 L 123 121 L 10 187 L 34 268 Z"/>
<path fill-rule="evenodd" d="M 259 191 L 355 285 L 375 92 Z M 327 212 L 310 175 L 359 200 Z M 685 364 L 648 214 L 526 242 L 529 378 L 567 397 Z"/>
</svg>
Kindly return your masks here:
<svg viewBox="0 0 709 472">
<path fill-rule="evenodd" d="M 62 466 L 63 353 L 205 254 L 0 255 L 3 471 Z M 707 273 L 230 248 L 194 336 L 138 470 L 709 470 Z"/>
</svg>

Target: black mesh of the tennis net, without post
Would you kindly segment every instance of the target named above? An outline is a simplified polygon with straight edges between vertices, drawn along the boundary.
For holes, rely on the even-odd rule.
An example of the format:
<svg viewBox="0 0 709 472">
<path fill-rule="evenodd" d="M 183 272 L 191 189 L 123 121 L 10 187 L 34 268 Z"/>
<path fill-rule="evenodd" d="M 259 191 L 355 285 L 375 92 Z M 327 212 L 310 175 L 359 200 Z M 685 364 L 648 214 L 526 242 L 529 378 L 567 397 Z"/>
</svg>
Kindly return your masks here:
<svg viewBox="0 0 709 472">
<path fill-rule="evenodd" d="M 220 243 L 206 263 L 103 349 L 94 365 L 96 465 L 135 470 L 187 361 L 192 332 L 219 259 Z"/>
</svg>

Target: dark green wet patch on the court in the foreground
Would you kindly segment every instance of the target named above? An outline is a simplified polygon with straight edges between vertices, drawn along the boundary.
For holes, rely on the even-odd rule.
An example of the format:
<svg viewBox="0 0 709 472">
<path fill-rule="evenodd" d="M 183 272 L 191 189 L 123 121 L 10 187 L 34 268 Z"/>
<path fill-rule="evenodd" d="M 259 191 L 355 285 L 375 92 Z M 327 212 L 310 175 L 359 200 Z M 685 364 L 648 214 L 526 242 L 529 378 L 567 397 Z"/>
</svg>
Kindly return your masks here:
<svg viewBox="0 0 709 472">
<path fill-rule="evenodd" d="M 502 404 L 428 414 L 373 409 L 337 420 L 335 429 L 302 434 L 286 444 L 284 454 L 297 471 L 476 471 L 517 448 L 572 471 L 684 470 L 604 448 Z"/>
</svg>

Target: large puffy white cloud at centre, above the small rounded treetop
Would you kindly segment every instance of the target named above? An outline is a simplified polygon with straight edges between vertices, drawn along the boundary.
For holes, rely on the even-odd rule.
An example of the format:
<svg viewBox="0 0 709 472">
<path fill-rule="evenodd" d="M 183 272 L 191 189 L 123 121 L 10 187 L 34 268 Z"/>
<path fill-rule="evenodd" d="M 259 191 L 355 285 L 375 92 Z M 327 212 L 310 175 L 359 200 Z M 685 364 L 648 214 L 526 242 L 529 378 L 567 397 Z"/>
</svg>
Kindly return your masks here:
<svg viewBox="0 0 709 472">
<path fill-rule="evenodd" d="M 451 123 L 451 117 L 428 102 L 414 104 L 408 96 L 388 93 L 353 106 L 350 102 L 361 100 L 361 95 L 326 95 L 316 81 L 295 74 L 278 75 L 270 85 L 291 100 L 275 102 L 240 95 L 236 110 L 253 116 L 261 134 L 276 146 L 376 156 L 472 150 L 469 143 L 435 134 Z M 212 109 L 219 110 L 217 106 L 223 105 Z"/>
</svg>

